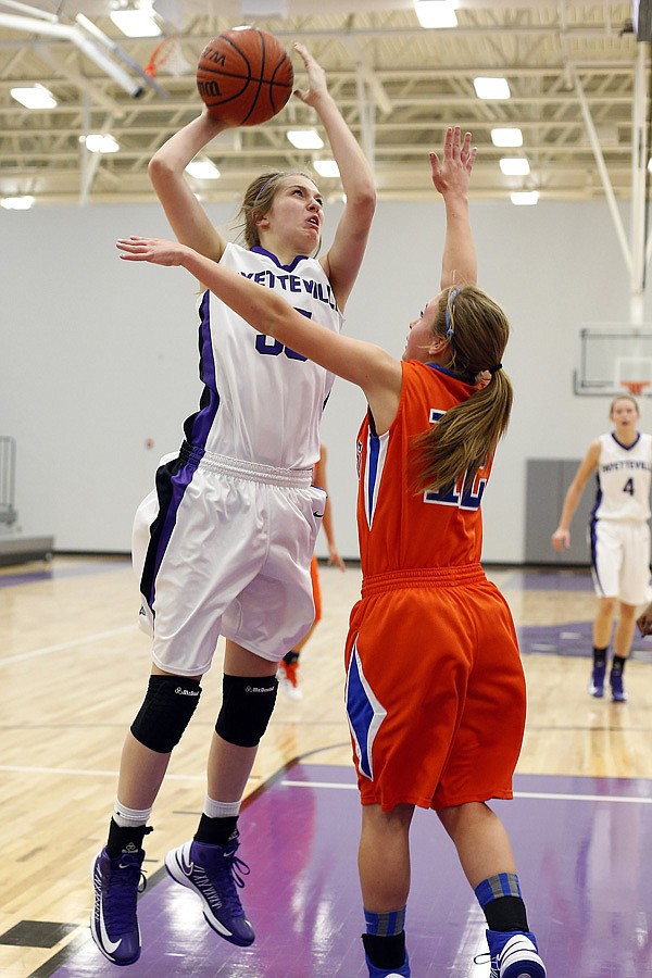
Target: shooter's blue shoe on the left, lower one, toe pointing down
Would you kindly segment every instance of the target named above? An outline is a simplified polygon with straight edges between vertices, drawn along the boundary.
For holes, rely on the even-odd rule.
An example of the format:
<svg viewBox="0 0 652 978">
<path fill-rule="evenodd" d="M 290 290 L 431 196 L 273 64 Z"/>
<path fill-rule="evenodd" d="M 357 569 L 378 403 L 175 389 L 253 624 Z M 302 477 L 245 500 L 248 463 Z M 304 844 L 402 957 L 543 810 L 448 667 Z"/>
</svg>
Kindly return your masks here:
<svg viewBox="0 0 652 978">
<path fill-rule="evenodd" d="M 129 965 L 140 957 L 140 929 L 136 900 L 146 887 L 141 872 L 145 851 L 123 852 L 111 858 L 105 849 L 91 866 L 95 907 L 90 917 L 93 941 L 109 961 Z"/>
</svg>

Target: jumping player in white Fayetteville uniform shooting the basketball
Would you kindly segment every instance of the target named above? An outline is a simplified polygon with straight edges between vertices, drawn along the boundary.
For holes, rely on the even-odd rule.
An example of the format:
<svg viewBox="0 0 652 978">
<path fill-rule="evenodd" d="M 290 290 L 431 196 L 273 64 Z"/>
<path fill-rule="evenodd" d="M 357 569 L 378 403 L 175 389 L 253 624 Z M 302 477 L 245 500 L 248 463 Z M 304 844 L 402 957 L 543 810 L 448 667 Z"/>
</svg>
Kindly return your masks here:
<svg viewBox="0 0 652 978">
<path fill-rule="evenodd" d="M 296 45 L 312 106 L 338 164 L 346 203 L 334 242 L 316 259 L 324 211 L 303 173 L 265 173 L 244 193 L 246 248 L 227 243 L 186 183 L 184 170 L 224 124 L 204 109 L 154 154 L 149 174 L 178 240 L 281 294 L 338 331 L 375 209 L 373 175 L 328 93 L 323 70 Z M 254 940 L 238 898 L 249 869 L 237 820 L 258 743 L 269 720 L 279 660 L 314 617 L 310 563 L 325 492 L 311 486 L 319 422 L 333 375 L 255 334 L 215 296 L 199 302 L 199 410 L 178 454 L 161 461 L 155 489 L 134 525 L 141 622 L 153 666 L 127 734 L 106 847 L 93 863 L 91 933 L 115 964 L 140 954 L 136 899 L 142 842 L 173 748 L 200 695 L 215 644 L 226 638 L 222 707 L 211 742 L 208 792 L 195 838 L 170 852 L 170 875 L 202 900 L 225 940 Z"/>
</svg>

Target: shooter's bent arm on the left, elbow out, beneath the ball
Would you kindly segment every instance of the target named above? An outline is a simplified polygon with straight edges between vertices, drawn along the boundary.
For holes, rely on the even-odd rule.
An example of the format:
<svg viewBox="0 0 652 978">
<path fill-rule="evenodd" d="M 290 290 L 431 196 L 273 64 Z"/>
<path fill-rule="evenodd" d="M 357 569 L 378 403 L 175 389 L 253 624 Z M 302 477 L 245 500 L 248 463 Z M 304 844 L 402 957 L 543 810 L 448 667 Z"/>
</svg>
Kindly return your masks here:
<svg viewBox="0 0 652 978">
<path fill-rule="evenodd" d="M 201 115 L 163 143 L 148 167 L 149 178 L 177 240 L 215 261 L 222 258 L 226 241 L 213 227 L 190 189 L 184 170 L 200 150 L 226 128 L 204 106 Z"/>
</svg>

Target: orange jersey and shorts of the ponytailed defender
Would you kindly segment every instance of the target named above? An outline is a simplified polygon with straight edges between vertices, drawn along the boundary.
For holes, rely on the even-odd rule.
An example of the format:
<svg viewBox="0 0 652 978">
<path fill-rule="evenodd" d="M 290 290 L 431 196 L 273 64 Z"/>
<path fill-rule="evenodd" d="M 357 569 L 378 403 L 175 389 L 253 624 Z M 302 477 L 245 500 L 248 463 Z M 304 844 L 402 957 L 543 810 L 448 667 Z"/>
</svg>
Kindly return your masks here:
<svg viewBox="0 0 652 978">
<path fill-rule="evenodd" d="M 389 431 L 367 415 L 359 436 L 363 580 L 344 700 L 362 804 L 440 810 L 512 797 L 525 680 L 507 603 L 480 565 L 491 461 L 449 492 L 410 488 L 413 438 L 475 388 L 417 361 L 402 368 Z"/>
</svg>

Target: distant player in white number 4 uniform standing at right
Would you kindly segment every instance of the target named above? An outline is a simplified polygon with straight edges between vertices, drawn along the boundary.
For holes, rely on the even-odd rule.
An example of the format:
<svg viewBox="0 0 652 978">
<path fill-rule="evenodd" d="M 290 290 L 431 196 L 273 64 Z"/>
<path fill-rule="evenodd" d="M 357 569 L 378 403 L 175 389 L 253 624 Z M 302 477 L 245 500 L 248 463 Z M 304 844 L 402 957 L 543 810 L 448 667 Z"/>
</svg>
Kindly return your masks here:
<svg viewBox="0 0 652 978">
<path fill-rule="evenodd" d="M 614 702 L 627 700 L 623 670 L 629 655 L 637 606 L 650 598 L 650 482 L 652 436 L 637 430 L 638 403 L 622 396 L 612 401 L 610 418 L 615 430 L 591 442 L 573 479 L 560 525 L 552 535 L 557 551 L 570 543 L 570 521 L 589 477 L 595 473 L 595 504 L 588 540 L 598 613 L 593 622 L 592 697 L 604 695 L 606 654 L 614 634 L 610 686 Z"/>
</svg>

